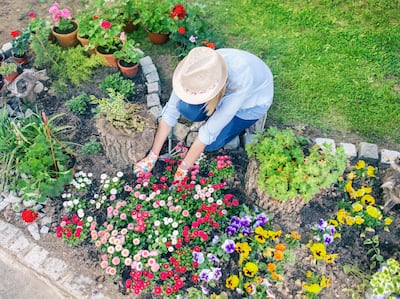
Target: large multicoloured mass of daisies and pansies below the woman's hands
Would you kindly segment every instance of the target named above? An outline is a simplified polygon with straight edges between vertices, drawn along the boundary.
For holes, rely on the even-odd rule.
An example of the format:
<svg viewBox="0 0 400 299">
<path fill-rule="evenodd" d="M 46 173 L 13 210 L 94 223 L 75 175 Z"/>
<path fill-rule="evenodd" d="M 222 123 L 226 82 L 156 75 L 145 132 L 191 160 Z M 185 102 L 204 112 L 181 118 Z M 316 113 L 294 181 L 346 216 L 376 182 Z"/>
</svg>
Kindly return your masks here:
<svg viewBox="0 0 400 299">
<path fill-rule="evenodd" d="M 98 183 L 98 192 L 86 192 L 104 198 L 105 211 L 82 228 L 101 252 L 101 268 L 112 279 L 123 277 L 127 293 L 136 295 L 177 296 L 189 284 L 207 295 L 219 284 L 244 297 L 260 291 L 273 298 L 271 286 L 282 281 L 289 244 L 300 236 L 292 232 L 280 240 L 282 231 L 272 228 L 267 215 L 227 192 L 225 179 L 234 173 L 229 156 L 203 157 L 171 189 L 186 152 L 178 144 L 172 158 L 159 162 L 165 170 L 157 177 L 140 174 L 132 184 L 124 182 L 122 173 L 91 179 L 89 189 Z M 85 179 L 78 177 L 82 187 Z M 58 235 L 68 232 L 63 220 Z M 237 271 L 225 272 L 232 262 Z"/>
</svg>

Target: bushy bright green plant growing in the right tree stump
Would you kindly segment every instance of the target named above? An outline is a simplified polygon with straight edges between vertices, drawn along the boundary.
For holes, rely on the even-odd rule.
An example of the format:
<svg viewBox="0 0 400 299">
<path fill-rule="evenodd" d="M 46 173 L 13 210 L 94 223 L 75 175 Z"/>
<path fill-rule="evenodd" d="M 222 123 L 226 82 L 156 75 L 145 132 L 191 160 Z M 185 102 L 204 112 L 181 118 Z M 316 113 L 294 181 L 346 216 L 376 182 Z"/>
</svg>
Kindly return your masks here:
<svg viewBox="0 0 400 299">
<path fill-rule="evenodd" d="M 334 152 L 328 145 L 310 147 L 310 141 L 289 128 L 271 127 L 246 146 L 249 157 L 260 164 L 260 188 L 278 200 L 297 196 L 310 200 L 336 182 L 346 167 L 343 148 Z"/>
</svg>

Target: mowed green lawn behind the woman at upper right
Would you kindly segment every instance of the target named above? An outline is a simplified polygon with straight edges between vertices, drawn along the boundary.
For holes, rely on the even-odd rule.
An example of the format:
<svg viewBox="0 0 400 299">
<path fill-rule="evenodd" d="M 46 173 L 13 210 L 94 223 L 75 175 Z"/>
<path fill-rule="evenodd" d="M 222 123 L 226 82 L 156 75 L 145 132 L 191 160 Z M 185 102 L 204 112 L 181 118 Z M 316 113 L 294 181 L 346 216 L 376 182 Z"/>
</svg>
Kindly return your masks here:
<svg viewBox="0 0 400 299">
<path fill-rule="evenodd" d="M 268 118 L 400 143 L 400 1 L 207 0 L 226 47 L 275 79 Z"/>
</svg>

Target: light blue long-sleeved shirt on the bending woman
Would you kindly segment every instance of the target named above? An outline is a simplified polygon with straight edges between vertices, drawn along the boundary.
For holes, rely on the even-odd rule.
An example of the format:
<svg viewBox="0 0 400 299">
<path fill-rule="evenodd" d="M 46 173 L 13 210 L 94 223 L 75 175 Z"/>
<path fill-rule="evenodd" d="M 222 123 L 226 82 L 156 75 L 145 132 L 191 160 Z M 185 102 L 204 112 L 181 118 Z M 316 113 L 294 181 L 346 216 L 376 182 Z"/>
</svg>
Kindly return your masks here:
<svg viewBox="0 0 400 299">
<path fill-rule="evenodd" d="M 257 56 L 238 49 L 216 50 L 228 68 L 226 92 L 214 113 L 200 127 L 198 138 L 205 145 L 213 143 L 222 129 L 237 116 L 245 120 L 261 118 L 268 111 L 274 96 L 274 81 L 269 67 Z M 162 119 L 170 126 L 178 122 L 180 99 L 171 93 L 162 111 Z"/>
</svg>

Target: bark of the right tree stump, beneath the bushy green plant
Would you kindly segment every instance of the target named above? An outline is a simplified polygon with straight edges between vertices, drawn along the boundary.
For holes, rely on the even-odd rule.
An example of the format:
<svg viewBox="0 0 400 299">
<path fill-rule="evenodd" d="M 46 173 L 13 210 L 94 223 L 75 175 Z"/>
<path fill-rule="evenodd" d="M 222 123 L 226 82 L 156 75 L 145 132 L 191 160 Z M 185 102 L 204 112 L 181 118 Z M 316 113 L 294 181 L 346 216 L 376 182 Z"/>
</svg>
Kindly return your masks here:
<svg viewBox="0 0 400 299">
<path fill-rule="evenodd" d="M 307 204 L 301 198 L 292 198 L 285 201 L 274 199 L 258 186 L 258 174 L 260 165 L 255 158 L 250 158 L 246 171 L 245 192 L 248 198 L 265 209 L 268 213 L 275 215 L 292 215 L 293 218 L 300 216 L 300 210 Z M 295 220 L 295 219 L 293 219 Z"/>
</svg>

